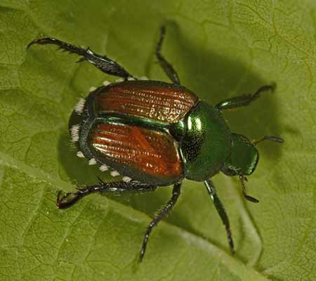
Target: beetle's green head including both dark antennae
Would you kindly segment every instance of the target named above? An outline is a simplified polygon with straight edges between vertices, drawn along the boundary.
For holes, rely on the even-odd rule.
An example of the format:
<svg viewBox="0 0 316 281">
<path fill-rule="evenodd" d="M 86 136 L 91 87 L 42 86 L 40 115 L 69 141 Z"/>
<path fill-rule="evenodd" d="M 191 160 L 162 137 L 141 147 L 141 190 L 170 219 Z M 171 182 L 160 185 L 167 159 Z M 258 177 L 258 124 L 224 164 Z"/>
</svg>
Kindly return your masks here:
<svg viewBox="0 0 316 281">
<path fill-rule="evenodd" d="M 245 176 L 254 173 L 259 160 L 259 152 L 256 145 L 261 141 L 275 141 L 283 143 L 283 139 L 276 136 L 264 136 L 259 141 L 251 143 L 245 136 L 237 133 L 232 133 L 232 152 L 230 157 L 226 159 L 221 171 L 226 176 L 239 176 L 242 182 L 242 193 L 246 200 L 251 202 L 258 202 L 254 197 L 246 195 L 244 180 L 247 181 Z"/>
</svg>

